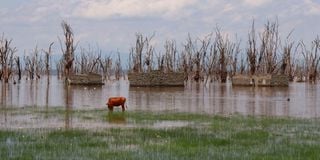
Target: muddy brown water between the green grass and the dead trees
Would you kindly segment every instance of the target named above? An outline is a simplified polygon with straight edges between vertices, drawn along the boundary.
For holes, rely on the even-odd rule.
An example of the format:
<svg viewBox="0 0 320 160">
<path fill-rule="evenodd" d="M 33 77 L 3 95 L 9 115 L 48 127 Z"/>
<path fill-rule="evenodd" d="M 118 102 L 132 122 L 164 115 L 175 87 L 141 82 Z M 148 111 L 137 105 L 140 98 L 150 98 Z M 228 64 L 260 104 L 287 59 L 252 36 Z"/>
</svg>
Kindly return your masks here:
<svg viewBox="0 0 320 160">
<path fill-rule="evenodd" d="M 208 114 L 320 117 L 320 85 L 291 83 L 288 88 L 232 87 L 229 83 L 188 84 L 178 88 L 132 88 L 129 82 L 103 86 L 65 86 L 57 77 L 0 85 L 4 107 L 101 109 L 110 96 L 128 98 L 128 111 L 174 111 Z M 116 110 L 119 111 L 119 110 Z M 1 116 L 1 115 L 0 115 Z"/>
</svg>

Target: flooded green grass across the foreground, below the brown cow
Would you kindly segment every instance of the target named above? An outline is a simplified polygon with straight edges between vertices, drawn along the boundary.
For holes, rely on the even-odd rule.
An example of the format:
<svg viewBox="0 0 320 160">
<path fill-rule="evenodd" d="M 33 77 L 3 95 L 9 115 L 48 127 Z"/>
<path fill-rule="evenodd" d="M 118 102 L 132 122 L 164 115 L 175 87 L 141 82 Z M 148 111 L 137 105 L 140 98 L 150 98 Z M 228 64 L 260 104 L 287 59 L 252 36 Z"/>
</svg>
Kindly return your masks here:
<svg viewBox="0 0 320 160">
<path fill-rule="evenodd" d="M 65 117 L 63 109 L 10 114 Z M 72 111 L 108 127 L 0 130 L 2 159 L 317 159 L 320 120 L 189 113 Z M 109 125 L 110 124 L 110 125 Z M 116 124 L 116 125 L 111 125 Z"/>
</svg>

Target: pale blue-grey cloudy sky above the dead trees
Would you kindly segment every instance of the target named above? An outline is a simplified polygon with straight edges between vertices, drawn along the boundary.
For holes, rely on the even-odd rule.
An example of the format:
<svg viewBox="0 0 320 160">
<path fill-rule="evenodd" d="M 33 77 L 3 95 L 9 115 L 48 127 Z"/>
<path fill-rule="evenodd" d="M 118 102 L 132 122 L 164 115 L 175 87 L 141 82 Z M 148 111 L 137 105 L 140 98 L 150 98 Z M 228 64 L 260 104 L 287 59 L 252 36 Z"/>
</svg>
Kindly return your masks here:
<svg viewBox="0 0 320 160">
<path fill-rule="evenodd" d="M 0 33 L 19 54 L 51 42 L 58 54 L 63 20 L 79 45 L 108 53 L 129 52 L 137 32 L 155 33 L 157 50 L 165 40 L 179 45 L 188 34 L 201 38 L 216 27 L 245 43 L 253 19 L 258 29 L 278 19 L 280 33 L 294 30 L 296 41 L 320 35 L 320 0 L 1 0 L 0 17 Z"/>
</svg>

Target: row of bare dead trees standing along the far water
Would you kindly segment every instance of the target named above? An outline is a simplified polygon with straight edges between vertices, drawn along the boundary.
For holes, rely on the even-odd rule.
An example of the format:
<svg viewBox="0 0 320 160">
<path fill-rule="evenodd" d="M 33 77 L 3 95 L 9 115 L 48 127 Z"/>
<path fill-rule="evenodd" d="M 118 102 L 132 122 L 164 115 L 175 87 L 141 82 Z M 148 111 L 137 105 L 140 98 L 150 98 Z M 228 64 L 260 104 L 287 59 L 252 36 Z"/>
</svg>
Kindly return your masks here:
<svg viewBox="0 0 320 160">
<path fill-rule="evenodd" d="M 83 48 L 74 44 L 71 26 L 63 21 L 63 38 L 59 38 L 62 57 L 52 63 L 52 46 L 32 51 L 31 55 L 16 56 L 12 40 L 2 35 L 0 39 L 0 79 L 4 82 L 37 79 L 49 76 L 51 70 L 59 77 L 70 74 L 96 72 L 108 80 L 125 76 L 121 54 L 117 58 L 103 55 L 99 48 Z M 292 40 L 290 33 L 281 39 L 278 21 L 268 21 L 261 32 L 252 22 L 246 41 L 230 40 L 220 28 L 204 38 L 193 39 L 190 35 L 182 47 L 175 40 L 167 40 L 164 50 L 155 51 L 152 36 L 136 34 L 135 46 L 130 48 L 128 72 L 184 72 L 189 81 L 226 82 L 236 74 L 285 74 L 290 81 L 316 82 L 319 79 L 320 38 L 311 44 Z M 241 44 L 245 42 L 245 44 Z M 240 46 L 244 46 L 241 48 Z M 178 48 L 181 48 L 178 50 Z M 21 63 L 23 61 L 23 65 Z"/>
</svg>

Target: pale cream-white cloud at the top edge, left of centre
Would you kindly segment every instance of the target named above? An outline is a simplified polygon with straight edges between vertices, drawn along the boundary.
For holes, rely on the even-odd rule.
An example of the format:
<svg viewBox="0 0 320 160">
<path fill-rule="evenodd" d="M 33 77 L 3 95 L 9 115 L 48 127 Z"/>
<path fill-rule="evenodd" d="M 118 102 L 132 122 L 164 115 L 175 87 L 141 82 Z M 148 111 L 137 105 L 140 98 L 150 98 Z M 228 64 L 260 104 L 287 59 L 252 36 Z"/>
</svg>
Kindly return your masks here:
<svg viewBox="0 0 320 160">
<path fill-rule="evenodd" d="M 112 17 L 170 17 L 181 14 L 196 0 L 108 0 L 82 1 L 74 15 L 90 19 Z"/>
</svg>

